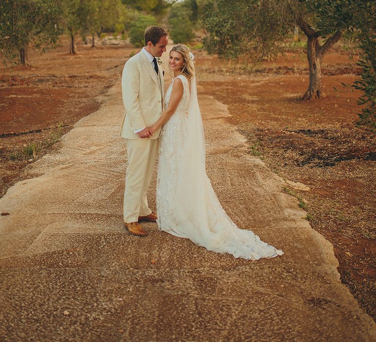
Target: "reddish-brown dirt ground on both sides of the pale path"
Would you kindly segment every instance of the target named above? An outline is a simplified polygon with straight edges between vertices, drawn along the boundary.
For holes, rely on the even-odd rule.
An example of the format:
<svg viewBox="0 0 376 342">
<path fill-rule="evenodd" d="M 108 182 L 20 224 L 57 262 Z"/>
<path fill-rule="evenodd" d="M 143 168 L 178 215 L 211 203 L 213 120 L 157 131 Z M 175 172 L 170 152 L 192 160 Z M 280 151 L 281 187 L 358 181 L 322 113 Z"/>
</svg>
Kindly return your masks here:
<svg viewBox="0 0 376 342">
<path fill-rule="evenodd" d="M 0 67 L 0 196 L 28 177 L 25 166 L 55 149 L 63 133 L 100 106 L 96 97 L 137 51 L 98 41 L 94 49 L 79 43 L 79 55 L 71 56 L 68 42 L 61 45 L 44 55 L 30 51 L 31 68 Z M 359 72 L 348 53 L 336 48 L 325 57 L 327 96 L 309 102 L 300 100 L 308 83 L 303 49 L 256 66 L 203 51 L 196 51 L 195 62 L 200 91 L 228 106 L 230 122 L 250 142 L 249 153 L 310 188 L 285 191 L 334 245 L 342 281 L 375 319 L 376 134 L 355 127 L 359 94 L 340 85 L 351 84 Z"/>
</svg>

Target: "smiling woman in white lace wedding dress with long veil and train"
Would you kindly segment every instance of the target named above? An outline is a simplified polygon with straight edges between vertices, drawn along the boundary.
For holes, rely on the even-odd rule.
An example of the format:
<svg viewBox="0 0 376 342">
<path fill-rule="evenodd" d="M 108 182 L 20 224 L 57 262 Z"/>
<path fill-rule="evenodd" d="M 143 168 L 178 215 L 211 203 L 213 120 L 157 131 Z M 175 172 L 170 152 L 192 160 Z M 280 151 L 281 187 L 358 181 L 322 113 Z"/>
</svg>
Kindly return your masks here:
<svg viewBox="0 0 376 342">
<path fill-rule="evenodd" d="M 211 187 L 193 58 L 187 46 L 172 47 L 169 66 L 174 78 L 164 97 L 165 110 L 149 128 L 153 133 L 163 126 L 157 173 L 158 228 L 235 257 L 258 260 L 282 255 L 252 231 L 239 229 Z"/>
</svg>

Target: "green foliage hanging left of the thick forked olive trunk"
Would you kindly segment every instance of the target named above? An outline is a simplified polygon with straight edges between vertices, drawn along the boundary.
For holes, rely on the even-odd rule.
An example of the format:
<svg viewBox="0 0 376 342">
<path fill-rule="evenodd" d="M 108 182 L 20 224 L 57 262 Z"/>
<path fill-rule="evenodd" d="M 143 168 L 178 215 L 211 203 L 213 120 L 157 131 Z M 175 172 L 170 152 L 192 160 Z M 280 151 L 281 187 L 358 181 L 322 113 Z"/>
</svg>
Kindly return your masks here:
<svg viewBox="0 0 376 342">
<path fill-rule="evenodd" d="M 209 53 L 226 59 L 275 56 L 280 51 L 275 42 L 291 31 L 302 10 L 299 4 L 292 7 L 295 2 L 209 0 L 202 11 L 208 32 L 204 45 Z"/>
</svg>

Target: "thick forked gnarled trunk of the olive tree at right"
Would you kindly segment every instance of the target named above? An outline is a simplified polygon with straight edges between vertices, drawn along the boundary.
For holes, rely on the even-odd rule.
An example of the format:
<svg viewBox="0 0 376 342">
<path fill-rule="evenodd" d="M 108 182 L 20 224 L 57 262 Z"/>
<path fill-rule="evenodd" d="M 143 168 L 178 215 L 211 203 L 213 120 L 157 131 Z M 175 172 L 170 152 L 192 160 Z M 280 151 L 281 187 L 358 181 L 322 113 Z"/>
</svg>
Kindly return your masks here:
<svg viewBox="0 0 376 342">
<path fill-rule="evenodd" d="M 307 59 L 309 65 L 309 85 L 302 99 L 320 98 L 324 95 L 321 89 L 321 62 L 329 49 L 339 41 L 342 32 L 337 31 L 324 45 L 320 45 L 320 34 L 311 25 L 302 19 L 298 21 L 298 25 L 307 36 Z"/>
</svg>

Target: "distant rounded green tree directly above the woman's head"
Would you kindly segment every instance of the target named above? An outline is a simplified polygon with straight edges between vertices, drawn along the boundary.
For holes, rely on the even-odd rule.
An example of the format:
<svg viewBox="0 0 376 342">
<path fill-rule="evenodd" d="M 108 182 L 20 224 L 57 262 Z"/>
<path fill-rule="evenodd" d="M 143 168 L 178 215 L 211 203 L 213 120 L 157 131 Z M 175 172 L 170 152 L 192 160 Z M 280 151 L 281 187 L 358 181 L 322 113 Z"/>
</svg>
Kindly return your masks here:
<svg viewBox="0 0 376 342">
<path fill-rule="evenodd" d="M 195 20 L 197 20 L 197 4 L 195 0 L 177 2 L 171 7 L 168 26 L 170 37 L 174 43 L 189 43 L 192 41 Z"/>
</svg>

